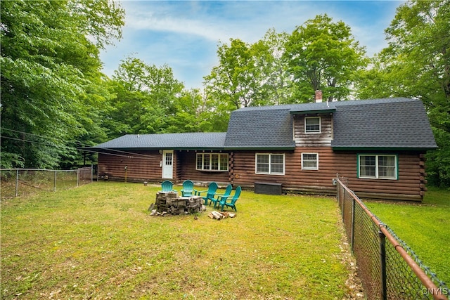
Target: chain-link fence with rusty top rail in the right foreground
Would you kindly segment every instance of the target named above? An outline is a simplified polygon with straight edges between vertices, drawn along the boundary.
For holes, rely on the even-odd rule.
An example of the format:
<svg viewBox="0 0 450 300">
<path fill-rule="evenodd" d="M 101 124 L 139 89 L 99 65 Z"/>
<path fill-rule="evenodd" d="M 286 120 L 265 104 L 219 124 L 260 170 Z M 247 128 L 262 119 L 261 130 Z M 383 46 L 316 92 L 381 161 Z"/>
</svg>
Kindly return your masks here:
<svg viewBox="0 0 450 300">
<path fill-rule="evenodd" d="M 336 179 L 347 238 L 367 299 L 449 299 L 450 290 L 369 211 L 345 178 Z"/>
</svg>

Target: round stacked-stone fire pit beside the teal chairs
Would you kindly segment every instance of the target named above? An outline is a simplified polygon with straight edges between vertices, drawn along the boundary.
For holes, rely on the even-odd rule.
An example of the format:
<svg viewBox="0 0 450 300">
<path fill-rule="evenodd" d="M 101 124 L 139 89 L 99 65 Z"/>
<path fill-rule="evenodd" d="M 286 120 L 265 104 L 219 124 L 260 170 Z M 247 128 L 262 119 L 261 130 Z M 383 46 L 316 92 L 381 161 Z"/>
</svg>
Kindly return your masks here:
<svg viewBox="0 0 450 300">
<path fill-rule="evenodd" d="M 176 192 L 156 193 L 155 211 L 160 214 L 195 214 L 202 211 L 201 196 L 178 197 Z"/>
</svg>

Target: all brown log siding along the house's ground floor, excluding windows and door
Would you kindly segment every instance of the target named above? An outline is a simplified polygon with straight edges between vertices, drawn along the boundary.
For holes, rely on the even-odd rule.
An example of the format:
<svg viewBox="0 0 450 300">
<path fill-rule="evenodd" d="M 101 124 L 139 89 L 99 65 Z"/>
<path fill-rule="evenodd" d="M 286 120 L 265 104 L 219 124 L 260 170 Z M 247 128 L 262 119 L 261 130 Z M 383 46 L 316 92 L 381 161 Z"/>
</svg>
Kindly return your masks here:
<svg viewBox="0 0 450 300">
<path fill-rule="evenodd" d="M 317 153 L 318 170 L 302 169 L 302 153 Z M 337 174 L 347 178 L 349 188 L 357 195 L 374 199 L 422 200 L 425 188 L 424 155 L 421 152 L 354 152 L 333 151 L 330 147 L 297 147 L 292 151 L 242 150 L 229 153 L 229 171 L 198 171 L 195 169 L 196 151 L 174 151 L 174 183 L 186 179 L 194 182 L 233 183 L 253 188 L 255 182 L 281 183 L 283 190 L 305 193 L 335 194 L 333 178 Z M 256 174 L 256 153 L 283 154 L 285 174 Z M 397 179 L 357 178 L 358 154 L 394 154 L 398 159 Z M 155 151 L 136 151 L 136 155 L 117 157 L 98 155 L 98 175 L 110 180 L 160 182 L 162 154 Z"/>
</svg>

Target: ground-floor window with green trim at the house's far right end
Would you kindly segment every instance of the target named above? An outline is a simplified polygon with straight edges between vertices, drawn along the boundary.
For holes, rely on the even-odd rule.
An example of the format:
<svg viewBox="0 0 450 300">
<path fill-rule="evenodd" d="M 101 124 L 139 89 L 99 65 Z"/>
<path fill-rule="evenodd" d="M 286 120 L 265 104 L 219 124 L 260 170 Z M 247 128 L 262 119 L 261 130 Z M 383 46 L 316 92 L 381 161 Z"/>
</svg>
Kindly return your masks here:
<svg viewBox="0 0 450 300">
<path fill-rule="evenodd" d="M 397 179 L 397 155 L 359 155 L 359 178 Z"/>
</svg>

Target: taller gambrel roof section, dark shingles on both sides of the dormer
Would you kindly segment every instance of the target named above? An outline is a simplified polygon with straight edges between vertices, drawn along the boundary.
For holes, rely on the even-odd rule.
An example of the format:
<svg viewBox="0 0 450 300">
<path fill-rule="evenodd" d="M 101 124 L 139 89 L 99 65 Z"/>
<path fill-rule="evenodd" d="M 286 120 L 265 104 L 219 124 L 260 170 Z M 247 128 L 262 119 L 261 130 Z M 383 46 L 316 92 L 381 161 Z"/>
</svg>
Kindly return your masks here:
<svg viewBox="0 0 450 300">
<path fill-rule="evenodd" d="M 382 98 L 244 107 L 231 113 L 226 148 L 293 148 L 290 114 L 333 111 L 333 148 L 436 148 L 420 100 Z"/>
</svg>

